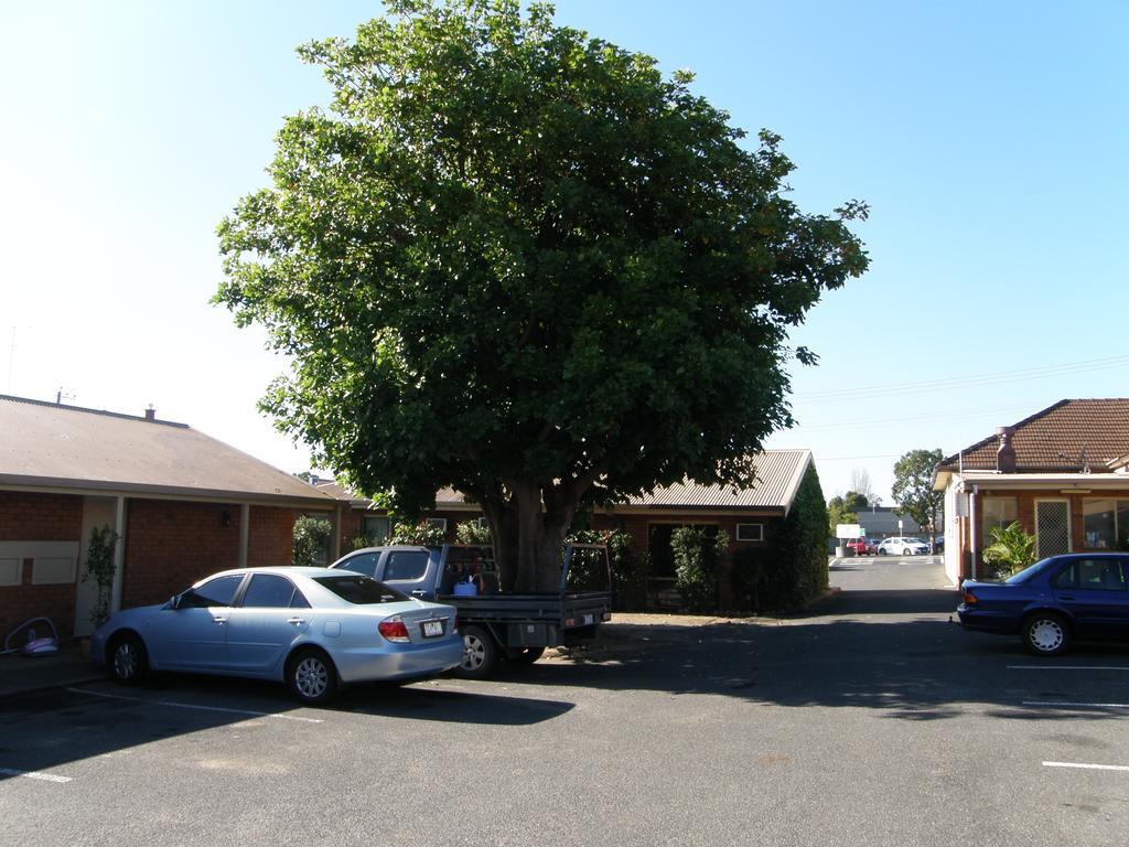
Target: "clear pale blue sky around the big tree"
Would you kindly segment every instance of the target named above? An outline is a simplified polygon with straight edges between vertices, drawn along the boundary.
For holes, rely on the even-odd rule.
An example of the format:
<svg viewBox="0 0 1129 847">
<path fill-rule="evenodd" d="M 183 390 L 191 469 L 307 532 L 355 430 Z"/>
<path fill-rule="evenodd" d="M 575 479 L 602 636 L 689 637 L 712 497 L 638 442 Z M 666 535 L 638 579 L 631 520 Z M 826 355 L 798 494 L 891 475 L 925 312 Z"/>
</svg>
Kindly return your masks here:
<svg viewBox="0 0 1129 847">
<path fill-rule="evenodd" d="M 872 270 L 795 342 L 830 497 L 886 503 L 905 451 L 956 452 L 1067 396 L 1129 395 L 1129 3 L 563 0 L 733 123 L 784 136 L 794 198 L 856 227 Z M 323 103 L 294 53 L 371 2 L 5 3 L 0 391 L 152 403 L 288 471 L 255 401 L 285 363 L 209 297 L 215 227 L 263 185 L 282 116 Z"/>
</svg>

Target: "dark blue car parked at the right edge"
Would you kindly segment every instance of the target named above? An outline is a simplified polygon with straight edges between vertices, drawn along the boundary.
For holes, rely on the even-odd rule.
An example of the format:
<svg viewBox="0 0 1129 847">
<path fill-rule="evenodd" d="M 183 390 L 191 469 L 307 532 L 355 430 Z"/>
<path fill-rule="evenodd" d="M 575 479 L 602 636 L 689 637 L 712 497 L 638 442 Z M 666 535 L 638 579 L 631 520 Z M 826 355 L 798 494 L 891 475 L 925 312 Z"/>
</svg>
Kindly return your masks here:
<svg viewBox="0 0 1129 847">
<path fill-rule="evenodd" d="M 1075 639 L 1129 638 L 1129 555 L 1067 553 L 1036 561 L 1003 583 L 966 580 L 961 626 L 1019 635 L 1038 656 Z"/>
</svg>

